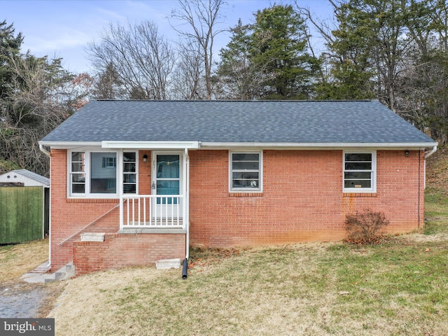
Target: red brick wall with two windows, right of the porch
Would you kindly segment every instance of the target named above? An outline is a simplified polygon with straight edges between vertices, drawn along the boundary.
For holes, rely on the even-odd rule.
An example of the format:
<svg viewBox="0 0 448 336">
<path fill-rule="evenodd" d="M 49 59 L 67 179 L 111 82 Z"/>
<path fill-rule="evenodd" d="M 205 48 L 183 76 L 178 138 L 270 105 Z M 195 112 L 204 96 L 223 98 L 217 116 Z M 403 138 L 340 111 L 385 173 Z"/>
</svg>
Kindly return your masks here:
<svg viewBox="0 0 448 336">
<path fill-rule="evenodd" d="M 228 151 L 190 152 L 190 244 L 342 239 L 345 215 L 366 207 L 384 211 L 390 232 L 423 225 L 418 151 L 377 151 L 374 194 L 342 193 L 342 151 L 264 151 L 262 195 L 228 192 L 228 160 Z"/>
</svg>

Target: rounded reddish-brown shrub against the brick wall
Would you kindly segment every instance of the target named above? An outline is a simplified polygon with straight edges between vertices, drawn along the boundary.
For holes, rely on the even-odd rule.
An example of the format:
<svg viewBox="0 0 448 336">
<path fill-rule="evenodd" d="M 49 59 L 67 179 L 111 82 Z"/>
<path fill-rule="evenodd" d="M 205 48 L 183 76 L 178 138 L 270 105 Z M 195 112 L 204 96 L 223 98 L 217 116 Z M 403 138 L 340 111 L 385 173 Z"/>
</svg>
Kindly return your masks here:
<svg viewBox="0 0 448 336">
<path fill-rule="evenodd" d="M 386 215 L 380 211 L 364 209 L 355 214 L 346 214 L 346 241 L 353 244 L 377 244 L 384 237 L 384 229 L 389 225 Z"/>
</svg>

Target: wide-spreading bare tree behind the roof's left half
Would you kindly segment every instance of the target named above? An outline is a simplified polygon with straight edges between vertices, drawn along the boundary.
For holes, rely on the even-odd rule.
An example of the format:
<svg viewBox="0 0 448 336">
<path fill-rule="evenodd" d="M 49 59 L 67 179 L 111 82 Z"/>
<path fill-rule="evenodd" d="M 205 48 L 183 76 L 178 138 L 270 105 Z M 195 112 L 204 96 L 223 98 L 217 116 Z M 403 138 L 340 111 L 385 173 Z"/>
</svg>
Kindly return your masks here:
<svg viewBox="0 0 448 336">
<path fill-rule="evenodd" d="M 114 71 L 130 99 L 167 99 L 176 52 L 158 33 L 154 22 L 140 25 L 109 25 L 99 43 L 87 47 L 99 73 Z"/>
</svg>

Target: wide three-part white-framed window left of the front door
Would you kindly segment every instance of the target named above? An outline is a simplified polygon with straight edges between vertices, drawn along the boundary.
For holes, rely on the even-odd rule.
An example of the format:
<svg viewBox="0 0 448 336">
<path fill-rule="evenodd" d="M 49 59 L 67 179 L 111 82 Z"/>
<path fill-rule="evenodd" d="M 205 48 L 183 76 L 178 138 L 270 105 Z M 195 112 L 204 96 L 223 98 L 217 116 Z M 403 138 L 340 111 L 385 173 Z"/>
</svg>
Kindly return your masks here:
<svg viewBox="0 0 448 336">
<path fill-rule="evenodd" d="M 67 157 L 68 197 L 115 198 L 122 190 L 137 193 L 136 151 L 73 150 Z"/>
</svg>

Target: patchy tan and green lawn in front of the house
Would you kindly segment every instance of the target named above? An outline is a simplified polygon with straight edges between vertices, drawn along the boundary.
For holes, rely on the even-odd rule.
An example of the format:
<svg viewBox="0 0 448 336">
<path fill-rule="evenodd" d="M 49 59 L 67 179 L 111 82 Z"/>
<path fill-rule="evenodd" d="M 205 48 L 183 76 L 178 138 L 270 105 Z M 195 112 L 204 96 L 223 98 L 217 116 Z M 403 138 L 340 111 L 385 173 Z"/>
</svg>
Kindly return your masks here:
<svg viewBox="0 0 448 336">
<path fill-rule="evenodd" d="M 187 280 L 137 267 L 66 281 L 48 317 L 58 336 L 447 335 L 447 190 L 428 183 L 421 232 L 374 246 L 195 249 Z"/>
</svg>

